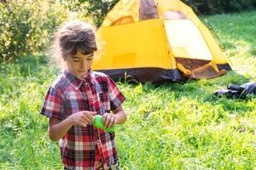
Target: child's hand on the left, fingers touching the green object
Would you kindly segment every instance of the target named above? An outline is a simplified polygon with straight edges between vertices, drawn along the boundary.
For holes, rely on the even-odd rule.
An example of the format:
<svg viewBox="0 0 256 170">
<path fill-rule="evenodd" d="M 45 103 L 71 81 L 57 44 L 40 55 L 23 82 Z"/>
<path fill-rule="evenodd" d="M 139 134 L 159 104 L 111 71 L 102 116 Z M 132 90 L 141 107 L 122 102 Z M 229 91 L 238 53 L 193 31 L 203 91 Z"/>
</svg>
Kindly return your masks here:
<svg viewBox="0 0 256 170">
<path fill-rule="evenodd" d="M 92 111 L 79 111 L 72 114 L 70 120 L 73 122 L 73 125 L 79 125 L 82 127 L 87 127 L 90 122 L 93 122 L 93 116 L 96 115 L 96 112 Z"/>
</svg>

